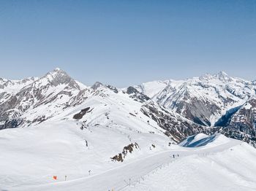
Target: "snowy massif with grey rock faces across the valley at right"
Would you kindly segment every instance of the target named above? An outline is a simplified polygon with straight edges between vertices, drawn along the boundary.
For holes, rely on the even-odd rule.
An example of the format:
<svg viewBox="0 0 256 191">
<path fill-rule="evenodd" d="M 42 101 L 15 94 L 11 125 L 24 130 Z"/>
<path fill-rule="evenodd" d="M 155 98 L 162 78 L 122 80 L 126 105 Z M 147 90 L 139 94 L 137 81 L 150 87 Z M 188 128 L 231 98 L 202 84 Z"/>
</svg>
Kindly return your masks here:
<svg viewBox="0 0 256 191">
<path fill-rule="evenodd" d="M 248 142 L 255 141 L 255 123 L 251 122 L 250 130 L 245 131 L 233 128 L 240 127 L 238 123 L 234 125 L 231 122 L 229 125 L 234 114 L 247 101 L 255 98 L 255 81 L 229 77 L 221 71 L 187 80 L 146 82 L 135 88 L 165 109 L 177 112 L 197 124 L 211 127 L 213 131 L 229 126 L 228 130 L 225 128 L 225 132 L 228 131 L 225 135 Z M 246 122 L 247 120 L 253 121 L 254 118 L 246 117 Z M 224 132 L 222 129 L 220 131 Z"/>
</svg>

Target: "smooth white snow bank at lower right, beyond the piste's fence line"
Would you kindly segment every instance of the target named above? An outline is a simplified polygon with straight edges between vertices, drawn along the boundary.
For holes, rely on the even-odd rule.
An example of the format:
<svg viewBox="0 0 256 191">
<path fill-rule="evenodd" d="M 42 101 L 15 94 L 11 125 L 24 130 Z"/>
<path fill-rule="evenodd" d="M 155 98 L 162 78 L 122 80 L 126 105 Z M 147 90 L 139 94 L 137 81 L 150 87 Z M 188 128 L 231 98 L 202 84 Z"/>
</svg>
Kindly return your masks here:
<svg viewBox="0 0 256 191">
<path fill-rule="evenodd" d="M 256 151 L 248 144 L 180 157 L 126 190 L 256 190 Z"/>
</svg>

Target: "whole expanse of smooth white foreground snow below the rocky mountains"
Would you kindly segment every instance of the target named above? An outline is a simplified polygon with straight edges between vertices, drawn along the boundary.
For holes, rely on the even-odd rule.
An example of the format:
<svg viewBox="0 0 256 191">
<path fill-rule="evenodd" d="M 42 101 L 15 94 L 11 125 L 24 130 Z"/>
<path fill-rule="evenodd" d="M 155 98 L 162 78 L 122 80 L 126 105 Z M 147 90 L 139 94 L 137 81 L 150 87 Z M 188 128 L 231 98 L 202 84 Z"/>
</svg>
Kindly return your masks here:
<svg viewBox="0 0 256 191">
<path fill-rule="evenodd" d="M 128 154 L 123 163 L 112 162 L 110 157 L 129 144 L 128 133 L 140 149 Z M 70 120 L 1 130 L 0 188 L 256 190 L 256 150 L 248 144 L 204 134 L 181 143 L 187 147 L 169 147 L 167 141 L 160 134 L 121 127 L 96 125 L 80 130 L 80 124 Z M 155 150 L 149 148 L 151 143 Z"/>
</svg>

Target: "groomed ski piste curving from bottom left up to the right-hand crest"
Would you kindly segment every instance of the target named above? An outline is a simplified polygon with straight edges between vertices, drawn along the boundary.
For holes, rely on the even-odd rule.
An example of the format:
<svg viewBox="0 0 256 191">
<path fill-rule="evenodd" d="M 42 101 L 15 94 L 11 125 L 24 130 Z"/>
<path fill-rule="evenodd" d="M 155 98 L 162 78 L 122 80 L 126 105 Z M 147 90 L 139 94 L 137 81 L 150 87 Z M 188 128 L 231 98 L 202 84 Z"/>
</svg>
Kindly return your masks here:
<svg viewBox="0 0 256 191">
<path fill-rule="evenodd" d="M 231 147 L 241 144 L 241 141 L 232 140 L 216 147 L 197 147 L 172 149 L 170 151 L 159 152 L 155 155 L 135 160 L 117 168 L 110 169 L 101 174 L 87 176 L 86 178 L 75 179 L 67 182 L 57 182 L 52 184 L 42 184 L 33 187 L 20 187 L 13 190 L 129 190 L 129 179 L 131 185 L 138 184 L 141 177 L 150 175 L 160 166 L 176 165 L 176 162 L 192 155 L 207 156 L 217 152 L 223 152 Z M 179 157 L 177 157 L 177 154 Z M 173 159 L 176 155 L 176 159 Z M 177 172 L 178 174 L 178 172 Z M 256 187 L 255 187 L 256 188 Z"/>
</svg>

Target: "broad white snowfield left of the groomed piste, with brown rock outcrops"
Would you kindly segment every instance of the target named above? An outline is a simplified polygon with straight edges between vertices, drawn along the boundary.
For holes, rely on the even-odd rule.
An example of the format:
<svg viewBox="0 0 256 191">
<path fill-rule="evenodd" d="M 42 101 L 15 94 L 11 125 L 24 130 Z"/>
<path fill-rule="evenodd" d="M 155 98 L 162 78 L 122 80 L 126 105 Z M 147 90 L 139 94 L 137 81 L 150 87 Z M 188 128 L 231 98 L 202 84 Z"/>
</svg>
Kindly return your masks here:
<svg viewBox="0 0 256 191">
<path fill-rule="evenodd" d="M 141 120 L 131 120 L 133 116 L 129 112 L 133 111 L 126 111 L 124 116 L 118 108 L 116 111 L 110 108 L 111 104 L 100 106 L 96 102 L 92 99 L 87 103 L 94 109 L 82 120 L 72 120 L 76 113 L 72 112 L 64 114 L 64 120 L 1 130 L 1 189 L 14 190 L 52 183 L 53 176 L 59 177 L 58 182 L 63 181 L 65 175 L 69 180 L 84 178 L 89 176 L 89 170 L 91 174 L 99 174 L 170 147 L 169 142 L 172 141 L 154 121 L 149 119 L 152 124 L 149 126 Z M 108 109 L 113 112 L 106 116 Z M 101 114 L 93 114 L 99 110 Z M 143 116 L 138 114 L 139 117 Z M 123 152 L 129 144 L 137 144 L 138 147 L 122 155 L 123 162 L 110 159 Z"/>
</svg>

